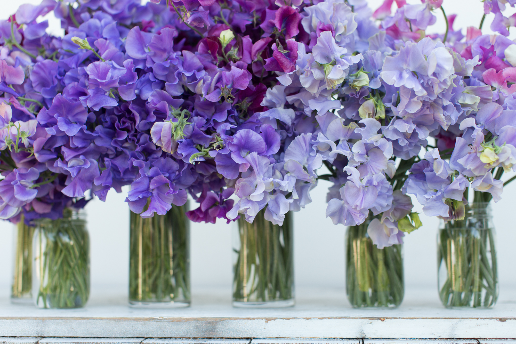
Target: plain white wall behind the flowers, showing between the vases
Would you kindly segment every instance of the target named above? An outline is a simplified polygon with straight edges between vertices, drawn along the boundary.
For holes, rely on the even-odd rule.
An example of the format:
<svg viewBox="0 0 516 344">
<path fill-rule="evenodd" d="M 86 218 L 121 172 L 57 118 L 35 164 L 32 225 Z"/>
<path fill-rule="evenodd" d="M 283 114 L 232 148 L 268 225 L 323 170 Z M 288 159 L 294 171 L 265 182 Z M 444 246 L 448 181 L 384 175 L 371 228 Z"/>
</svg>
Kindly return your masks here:
<svg viewBox="0 0 516 344">
<path fill-rule="evenodd" d="M 2 0 L 0 19 L 8 18 L 16 8 L 25 2 Z M 30 1 L 39 3 L 39 1 Z M 378 8 L 380 0 L 369 1 L 370 7 Z M 417 4 L 417 0 L 409 3 Z M 443 7 L 447 14 L 458 13 L 455 29 L 478 26 L 482 17 L 482 3 L 479 0 L 445 0 Z M 507 13 L 514 13 L 509 8 Z M 436 11 L 436 25 L 427 32 L 444 32 L 442 13 Z M 508 14 L 506 14 L 508 16 Z M 62 35 L 59 22 L 48 14 L 50 32 Z M 38 20 L 42 20 L 41 18 Z M 484 33 L 491 33 L 489 25 L 492 15 L 486 19 Z M 516 37 L 511 28 L 511 39 Z M 313 202 L 294 215 L 295 276 L 297 287 L 320 287 L 344 289 L 344 232 L 343 225 L 335 226 L 325 218 L 326 192 L 331 184 L 319 181 L 312 192 Z M 111 190 L 106 202 L 91 201 L 88 212 L 88 228 L 91 239 L 91 285 L 92 293 L 102 293 L 105 288 L 116 288 L 127 293 L 128 284 L 128 208 L 124 199 L 127 189 L 117 194 Z M 493 204 L 494 224 L 497 230 L 499 280 L 501 294 L 508 287 L 516 286 L 514 256 L 516 243 L 516 182 L 508 185 L 503 199 Z M 414 209 L 420 213 L 421 206 L 414 199 Z M 191 206 L 196 206 L 190 202 Z M 405 279 L 406 288 L 434 288 L 437 294 L 437 248 L 436 236 L 439 220 L 421 214 L 423 227 L 405 237 Z M 199 288 L 222 287 L 230 293 L 232 283 L 231 231 L 233 225 L 218 221 L 217 224 L 191 224 L 191 277 L 195 294 Z M 0 297 L 9 294 L 13 265 L 13 226 L 0 221 Z M 193 300 L 195 302 L 195 300 Z"/>
</svg>

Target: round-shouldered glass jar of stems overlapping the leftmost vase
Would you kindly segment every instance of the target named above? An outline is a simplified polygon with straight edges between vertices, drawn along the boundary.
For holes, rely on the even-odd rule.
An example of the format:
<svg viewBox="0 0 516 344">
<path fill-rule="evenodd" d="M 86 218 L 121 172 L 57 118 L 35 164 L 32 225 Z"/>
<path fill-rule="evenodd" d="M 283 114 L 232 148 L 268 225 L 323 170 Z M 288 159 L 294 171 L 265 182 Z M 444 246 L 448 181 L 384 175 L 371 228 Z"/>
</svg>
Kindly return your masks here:
<svg viewBox="0 0 516 344">
<path fill-rule="evenodd" d="M 40 308 L 83 307 L 90 294 L 90 240 L 84 210 L 34 221 L 33 296 Z"/>
</svg>

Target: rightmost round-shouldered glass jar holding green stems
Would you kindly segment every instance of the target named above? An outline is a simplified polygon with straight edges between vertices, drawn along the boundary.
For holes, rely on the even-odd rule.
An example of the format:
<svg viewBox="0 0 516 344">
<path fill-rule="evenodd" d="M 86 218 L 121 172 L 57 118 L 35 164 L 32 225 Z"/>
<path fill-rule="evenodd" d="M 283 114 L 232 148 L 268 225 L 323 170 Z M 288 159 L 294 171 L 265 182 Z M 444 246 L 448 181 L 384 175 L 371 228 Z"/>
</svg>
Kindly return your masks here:
<svg viewBox="0 0 516 344">
<path fill-rule="evenodd" d="M 495 232 L 487 202 L 467 205 L 464 220 L 438 234 L 439 296 L 445 307 L 493 307 L 498 298 Z"/>
</svg>

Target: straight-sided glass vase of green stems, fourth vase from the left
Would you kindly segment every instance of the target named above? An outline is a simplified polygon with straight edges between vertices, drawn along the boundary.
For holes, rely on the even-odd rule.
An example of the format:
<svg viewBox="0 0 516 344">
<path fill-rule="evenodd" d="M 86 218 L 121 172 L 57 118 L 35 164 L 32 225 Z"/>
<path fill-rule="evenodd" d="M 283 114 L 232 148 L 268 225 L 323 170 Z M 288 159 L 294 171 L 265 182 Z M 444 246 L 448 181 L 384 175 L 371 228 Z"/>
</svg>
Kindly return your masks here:
<svg viewBox="0 0 516 344">
<path fill-rule="evenodd" d="M 253 223 L 240 215 L 233 237 L 233 306 L 277 308 L 294 305 L 292 214 L 282 226 L 265 220 L 260 211 Z"/>
</svg>

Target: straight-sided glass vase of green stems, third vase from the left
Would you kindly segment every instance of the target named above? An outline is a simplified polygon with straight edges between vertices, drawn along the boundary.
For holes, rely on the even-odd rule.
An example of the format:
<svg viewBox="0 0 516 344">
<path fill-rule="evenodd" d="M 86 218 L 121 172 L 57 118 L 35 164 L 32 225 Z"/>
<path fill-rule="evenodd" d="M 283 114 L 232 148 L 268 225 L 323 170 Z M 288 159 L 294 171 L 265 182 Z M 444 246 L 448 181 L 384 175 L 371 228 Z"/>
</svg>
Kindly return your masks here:
<svg viewBox="0 0 516 344">
<path fill-rule="evenodd" d="M 131 212 L 129 304 L 190 305 L 190 223 L 187 205 L 142 218 Z"/>
</svg>

